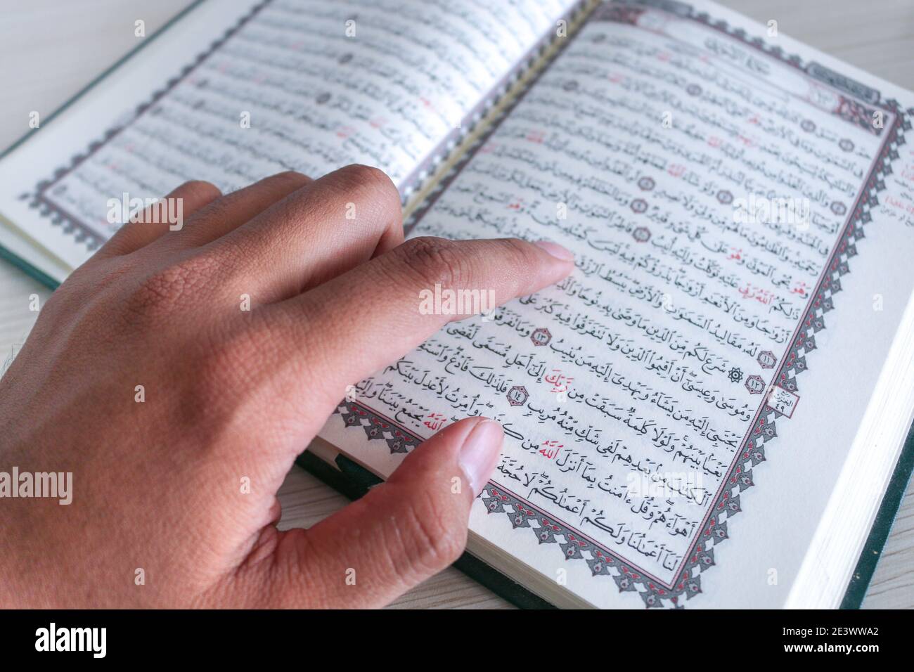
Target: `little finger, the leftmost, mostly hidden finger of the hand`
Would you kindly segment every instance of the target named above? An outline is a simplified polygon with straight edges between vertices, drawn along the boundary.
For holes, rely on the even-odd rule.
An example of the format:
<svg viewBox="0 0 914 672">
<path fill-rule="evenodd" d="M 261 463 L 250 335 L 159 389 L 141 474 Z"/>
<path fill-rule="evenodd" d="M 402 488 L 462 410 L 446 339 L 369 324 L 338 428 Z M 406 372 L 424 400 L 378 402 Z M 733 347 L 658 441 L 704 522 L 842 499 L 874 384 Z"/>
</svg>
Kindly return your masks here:
<svg viewBox="0 0 914 672">
<path fill-rule="evenodd" d="M 185 182 L 165 198 L 143 209 L 142 215 L 125 222 L 96 254 L 113 257 L 137 251 L 161 238 L 169 229 L 183 228 L 185 219 L 221 195 L 218 187 L 208 182 Z"/>
</svg>

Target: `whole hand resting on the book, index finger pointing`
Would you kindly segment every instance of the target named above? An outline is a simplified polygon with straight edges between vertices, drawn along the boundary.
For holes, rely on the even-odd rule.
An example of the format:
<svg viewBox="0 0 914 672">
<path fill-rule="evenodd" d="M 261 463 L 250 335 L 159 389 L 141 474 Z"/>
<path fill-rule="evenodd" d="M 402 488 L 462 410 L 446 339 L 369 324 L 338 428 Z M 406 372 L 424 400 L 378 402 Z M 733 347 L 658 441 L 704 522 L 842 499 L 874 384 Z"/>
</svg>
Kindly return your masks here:
<svg viewBox="0 0 914 672">
<path fill-rule="evenodd" d="M 396 188 L 360 165 L 169 197 L 183 228 L 123 226 L 0 379 L 0 471 L 73 474 L 69 506 L 0 499 L 0 605 L 379 607 L 448 566 L 497 462 L 493 421 L 453 423 L 308 530 L 275 528 L 276 492 L 347 385 L 461 317 L 420 315 L 421 290 L 504 303 L 570 255 L 404 243 Z"/>
</svg>

